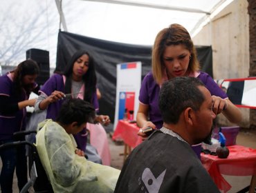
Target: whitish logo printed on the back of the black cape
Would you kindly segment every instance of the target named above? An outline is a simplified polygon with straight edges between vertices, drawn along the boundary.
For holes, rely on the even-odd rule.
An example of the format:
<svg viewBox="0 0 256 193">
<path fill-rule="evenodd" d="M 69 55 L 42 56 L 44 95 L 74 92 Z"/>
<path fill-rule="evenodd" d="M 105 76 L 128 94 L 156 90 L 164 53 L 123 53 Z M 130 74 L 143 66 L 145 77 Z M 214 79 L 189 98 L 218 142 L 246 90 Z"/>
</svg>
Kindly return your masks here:
<svg viewBox="0 0 256 193">
<path fill-rule="evenodd" d="M 154 174 L 152 174 L 151 170 L 148 167 L 143 171 L 142 180 L 147 187 L 147 191 L 149 191 L 149 193 L 156 193 L 159 191 L 163 183 L 163 177 L 165 176 L 165 172 L 166 169 L 157 178 L 155 178 Z"/>
</svg>

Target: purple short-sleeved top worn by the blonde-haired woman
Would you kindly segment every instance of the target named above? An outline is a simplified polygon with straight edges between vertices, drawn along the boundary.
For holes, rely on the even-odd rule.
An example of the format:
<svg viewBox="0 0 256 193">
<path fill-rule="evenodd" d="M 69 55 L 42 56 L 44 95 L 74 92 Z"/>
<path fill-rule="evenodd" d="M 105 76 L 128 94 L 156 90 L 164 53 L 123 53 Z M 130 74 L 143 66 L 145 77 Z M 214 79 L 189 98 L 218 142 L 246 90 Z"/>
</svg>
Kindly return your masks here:
<svg viewBox="0 0 256 193">
<path fill-rule="evenodd" d="M 209 74 L 200 72 L 199 76 L 196 78 L 200 79 L 205 84 L 205 87 L 212 95 L 219 96 L 221 99 L 228 98 L 227 94 L 219 88 Z M 159 91 L 160 86 L 154 80 L 152 72 L 147 73 L 141 84 L 140 96 L 138 99 L 140 103 L 149 105 L 149 120 L 156 125 L 156 128 L 161 129 L 163 126 L 163 119 L 158 108 Z"/>
</svg>

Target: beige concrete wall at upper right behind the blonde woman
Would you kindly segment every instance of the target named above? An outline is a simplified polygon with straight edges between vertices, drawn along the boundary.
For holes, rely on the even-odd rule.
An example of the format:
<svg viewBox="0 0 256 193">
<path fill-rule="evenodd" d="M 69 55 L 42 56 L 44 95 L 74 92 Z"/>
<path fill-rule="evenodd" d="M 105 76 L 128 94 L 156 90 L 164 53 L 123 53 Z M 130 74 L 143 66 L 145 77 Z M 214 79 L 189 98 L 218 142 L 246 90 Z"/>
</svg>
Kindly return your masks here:
<svg viewBox="0 0 256 193">
<path fill-rule="evenodd" d="M 248 1 L 232 1 L 212 18 L 192 38 L 195 45 L 212 45 L 212 70 L 214 79 L 235 79 L 249 76 L 249 15 Z M 241 108 L 243 121 L 239 124 L 249 128 L 250 110 Z M 232 125 L 222 114 L 220 125 Z"/>
</svg>

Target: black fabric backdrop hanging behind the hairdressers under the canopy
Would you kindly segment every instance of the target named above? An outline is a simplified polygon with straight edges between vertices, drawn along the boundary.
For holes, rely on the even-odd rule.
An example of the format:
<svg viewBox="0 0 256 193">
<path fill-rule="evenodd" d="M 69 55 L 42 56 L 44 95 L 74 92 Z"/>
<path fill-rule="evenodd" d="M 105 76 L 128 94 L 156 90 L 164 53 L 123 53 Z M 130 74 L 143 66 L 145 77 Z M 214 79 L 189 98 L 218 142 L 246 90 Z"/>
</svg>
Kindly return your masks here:
<svg viewBox="0 0 256 193">
<path fill-rule="evenodd" d="M 71 56 L 80 49 L 93 56 L 98 88 L 102 94 L 99 100 L 100 114 L 108 114 L 113 121 L 116 105 L 116 64 L 141 61 L 143 80 L 145 74 L 151 70 L 152 46 L 116 43 L 60 31 L 55 71 L 62 72 Z M 212 47 L 196 46 L 196 50 L 201 70 L 212 76 Z"/>
</svg>

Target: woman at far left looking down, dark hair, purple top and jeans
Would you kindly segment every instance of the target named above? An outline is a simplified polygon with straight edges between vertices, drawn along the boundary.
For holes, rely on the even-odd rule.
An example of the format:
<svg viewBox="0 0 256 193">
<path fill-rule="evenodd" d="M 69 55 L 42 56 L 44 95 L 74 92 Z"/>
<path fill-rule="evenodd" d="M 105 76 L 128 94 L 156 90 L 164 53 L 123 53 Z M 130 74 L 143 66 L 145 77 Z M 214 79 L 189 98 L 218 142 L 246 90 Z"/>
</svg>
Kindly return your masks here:
<svg viewBox="0 0 256 193">
<path fill-rule="evenodd" d="M 33 60 L 26 60 L 17 68 L 0 77 L 0 145 L 15 141 L 13 133 L 26 128 L 26 107 L 34 106 L 36 99 L 28 99 L 37 86 L 35 79 L 39 67 Z M 25 147 L 1 150 L 1 192 L 12 192 L 13 174 L 18 179 L 19 190 L 27 182 Z"/>
</svg>

